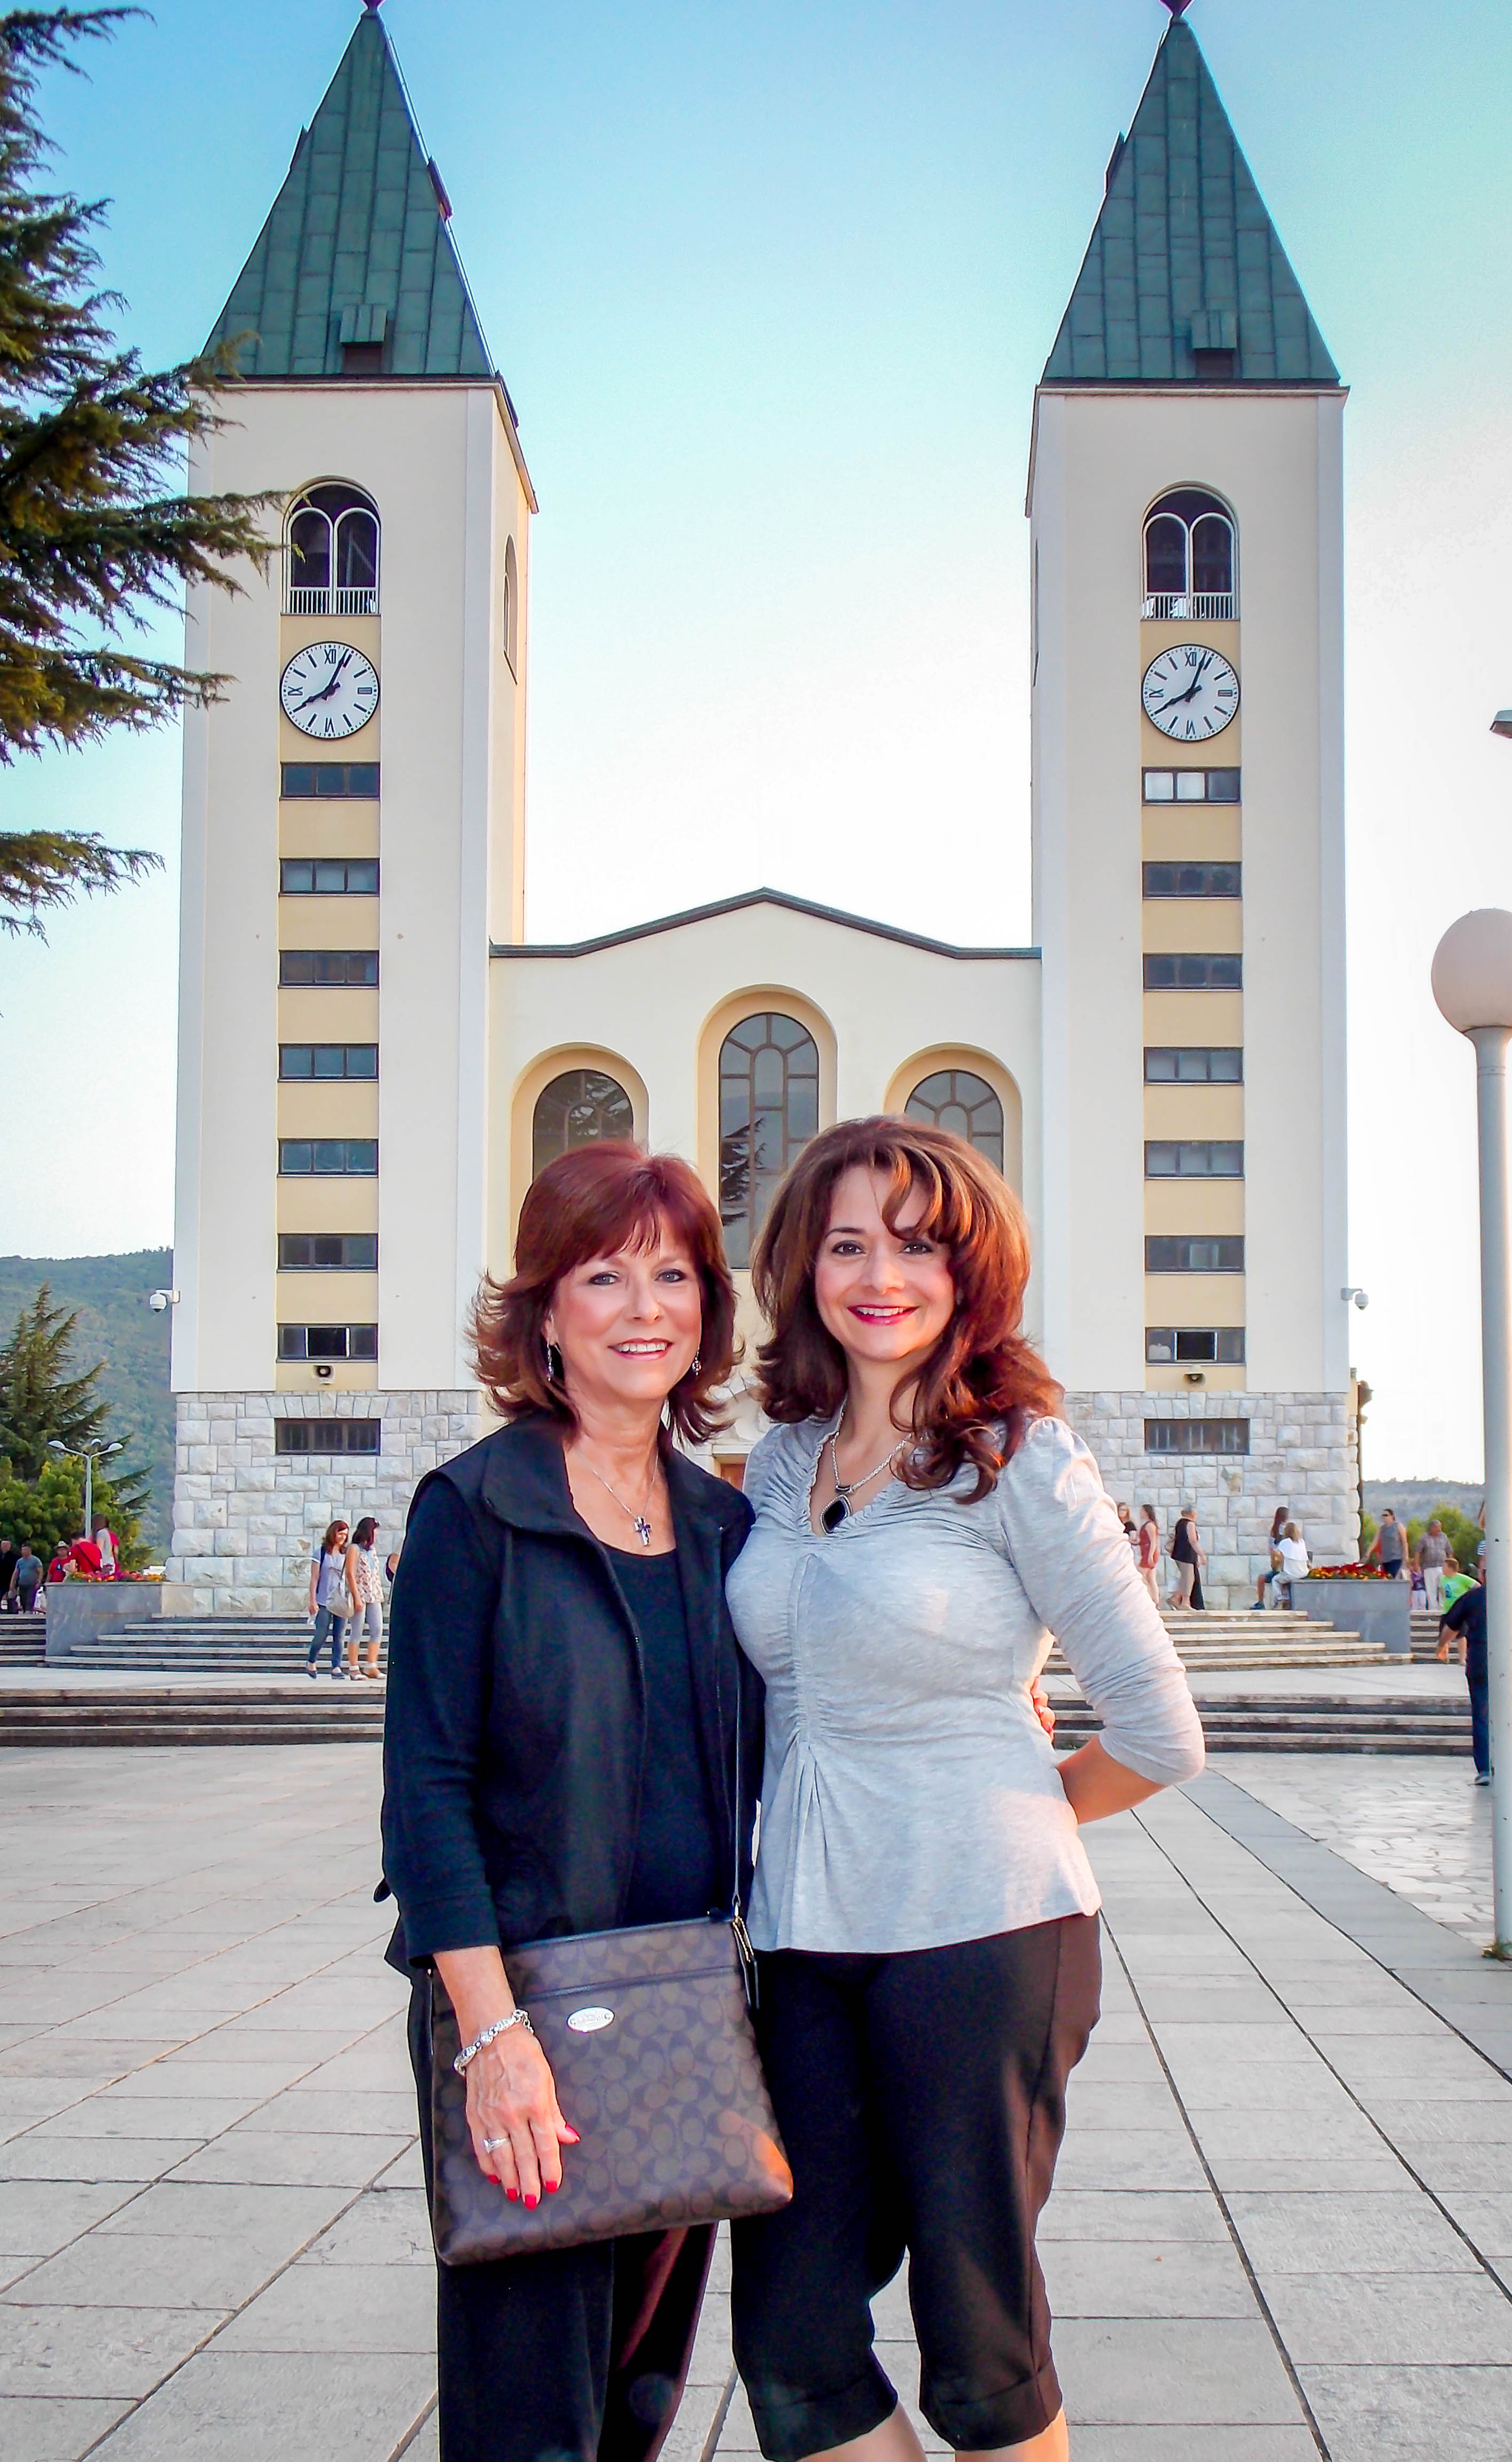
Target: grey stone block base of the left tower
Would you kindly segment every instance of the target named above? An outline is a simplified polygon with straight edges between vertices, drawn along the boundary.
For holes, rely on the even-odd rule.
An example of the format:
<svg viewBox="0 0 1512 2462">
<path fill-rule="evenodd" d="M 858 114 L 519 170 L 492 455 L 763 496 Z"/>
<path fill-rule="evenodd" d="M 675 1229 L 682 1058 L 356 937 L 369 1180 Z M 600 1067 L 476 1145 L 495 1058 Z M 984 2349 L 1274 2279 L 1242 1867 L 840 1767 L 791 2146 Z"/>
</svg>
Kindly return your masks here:
<svg viewBox="0 0 1512 2462">
<path fill-rule="evenodd" d="M 382 1450 L 276 1453 L 278 1418 L 377 1418 Z M 167 1615 L 298 1615 L 310 1556 L 337 1517 L 404 1536 L 426 1470 L 493 1425 L 475 1389 L 431 1393 L 180 1393 Z"/>
</svg>

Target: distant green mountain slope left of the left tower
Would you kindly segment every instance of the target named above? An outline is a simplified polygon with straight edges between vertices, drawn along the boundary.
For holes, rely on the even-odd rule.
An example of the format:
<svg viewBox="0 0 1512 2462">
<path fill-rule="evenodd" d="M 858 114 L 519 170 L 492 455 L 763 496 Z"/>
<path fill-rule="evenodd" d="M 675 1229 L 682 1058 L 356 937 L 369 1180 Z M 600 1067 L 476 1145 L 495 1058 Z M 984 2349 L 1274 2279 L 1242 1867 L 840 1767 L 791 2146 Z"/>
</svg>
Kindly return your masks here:
<svg viewBox="0 0 1512 2462">
<path fill-rule="evenodd" d="M 0 1342 L 10 1342 L 15 1320 L 42 1283 L 52 1288 L 54 1307 L 79 1310 L 74 1366 L 91 1369 L 103 1359 L 108 1433 L 135 1433 L 128 1462 L 153 1480 L 143 1539 L 153 1554 L 163 1554 L 172 1507 L 170 1317 L 153 1315 L 148 1293 L 172 1283 L 172 1248 L 133 1248 L 128 1256 L 0 1256 Z"/>
</svg>

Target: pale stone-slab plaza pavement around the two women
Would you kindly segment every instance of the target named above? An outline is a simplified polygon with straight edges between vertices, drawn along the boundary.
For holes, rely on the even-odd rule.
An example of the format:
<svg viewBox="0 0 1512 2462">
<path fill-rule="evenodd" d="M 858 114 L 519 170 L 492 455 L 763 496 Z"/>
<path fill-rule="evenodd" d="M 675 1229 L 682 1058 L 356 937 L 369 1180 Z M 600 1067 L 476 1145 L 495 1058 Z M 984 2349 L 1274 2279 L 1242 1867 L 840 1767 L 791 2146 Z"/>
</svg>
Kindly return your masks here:
<svg viewBox="0 0 1512 2462">
<path fill-rule="evenodd" d="M 0 2462 L 433 2457 L 377 1785 L 369 1746 L 0 1753 Z M 1505 2462 L 1512 1972 L 1463 1765 L 1234 1755 L 1091 1849 L 1042 2235 L 1076 2462 Z M 877 2314 L 911 2393 L 901 2282 Z M 746 2452 L 717 2290 L 670 2462 Z"/>
</svg>

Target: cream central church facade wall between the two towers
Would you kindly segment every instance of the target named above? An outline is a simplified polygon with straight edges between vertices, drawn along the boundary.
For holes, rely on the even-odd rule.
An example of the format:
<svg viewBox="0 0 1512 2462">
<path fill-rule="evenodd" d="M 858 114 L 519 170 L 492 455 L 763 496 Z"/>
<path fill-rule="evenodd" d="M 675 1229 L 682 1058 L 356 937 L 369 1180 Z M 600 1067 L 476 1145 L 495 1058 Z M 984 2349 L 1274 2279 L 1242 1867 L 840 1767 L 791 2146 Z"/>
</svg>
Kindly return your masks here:
<svg viewBox="0 0 1512 2462">
<path fill-rule="evenodd" d="M 1039 1233 L 1039 965 L 941 958 L 781 906 L 746 906 L 584 958 L 505 955 L 493 965 L 495 1123 L 515 1110 L 515 1162 L 493 1145 L 490 1265 L 507 1270 L 529 1182 L 525 1101 L 554 1073 L 542 1056 L 623 1054 L 645 1091 L 650 1145 L 694 1160 L 714 1184 L 719 1039 L 781 1007 L 820 1044 L 820 1118 L 884 1110 L 906 1061 L 980 1054 L 1022 1103 L 1022 1197 Z M 606 1064 L 606 1061 L 603 1061 Z M 926 1071 L 921 1071 L 926 1073 Z M 635 1086 L 630 1086 L 635 1098 Z M 1039 1238 L 1037 1238 L 1039 1251 Z M 1029 1305 L 1034 1307 L 1034 1293 Z"/>
</svg>

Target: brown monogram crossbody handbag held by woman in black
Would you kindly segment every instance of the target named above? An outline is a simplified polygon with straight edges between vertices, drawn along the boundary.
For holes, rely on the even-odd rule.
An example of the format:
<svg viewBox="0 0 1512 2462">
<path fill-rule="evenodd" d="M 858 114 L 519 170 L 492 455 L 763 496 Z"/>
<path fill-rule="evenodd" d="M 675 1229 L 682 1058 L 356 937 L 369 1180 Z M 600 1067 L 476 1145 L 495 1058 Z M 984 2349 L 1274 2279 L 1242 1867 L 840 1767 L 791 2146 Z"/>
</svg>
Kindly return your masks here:
<svg viewBox="0 0 1512 2462">
<path fill-rule="evenodd" d="M 561 2189 L 534 2211 L 485 2179 L 468 2130 L 456 2011 L 431 1975 L 431 2226 L 443 2265 L 776 2213 L 793 2174 L 746 2007 L 736 1913 L 571 1933 L 505 1950 L 510 1992 L 552 2063 Z"/>
</svg>

